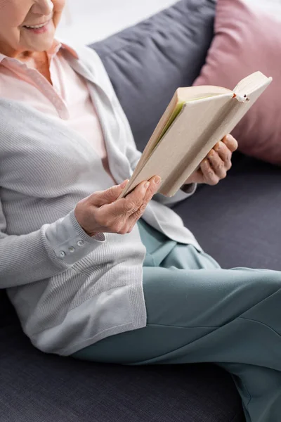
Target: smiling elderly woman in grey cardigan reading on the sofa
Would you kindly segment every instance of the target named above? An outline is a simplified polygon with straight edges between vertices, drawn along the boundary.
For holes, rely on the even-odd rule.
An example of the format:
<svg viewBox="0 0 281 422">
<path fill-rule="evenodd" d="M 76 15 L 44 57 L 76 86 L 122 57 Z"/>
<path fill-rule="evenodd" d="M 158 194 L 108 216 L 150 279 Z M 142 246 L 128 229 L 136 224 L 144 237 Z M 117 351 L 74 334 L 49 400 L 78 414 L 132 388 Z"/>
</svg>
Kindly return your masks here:
<svg viewBox="0 0 281 422">
<path fill-rule="evenodd" d="M 0 0 L 0 286 L 22 329 L 77 359 L 214 362 L 248 422 L 279 422 L 281 274 L 221 269 L 169 207 L 226 177 L 237 142 L 174 198 L 155 175 L 118 200 L 141 153 L 95 51 L 54 39 L 64 3 Z"/>
</svg>

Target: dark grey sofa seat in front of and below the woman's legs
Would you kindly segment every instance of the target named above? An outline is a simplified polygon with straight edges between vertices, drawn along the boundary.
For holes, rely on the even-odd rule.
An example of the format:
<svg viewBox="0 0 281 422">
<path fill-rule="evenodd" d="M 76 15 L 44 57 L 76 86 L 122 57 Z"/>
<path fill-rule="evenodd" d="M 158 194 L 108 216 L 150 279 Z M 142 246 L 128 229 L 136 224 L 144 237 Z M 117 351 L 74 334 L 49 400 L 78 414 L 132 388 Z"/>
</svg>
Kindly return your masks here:
<svg viewBox="0 0 281 422">
<path fill-rule="evenodd" d="M 231 378 L 211 365 L 91 364 L 0 328 L 1 422 L 241 422 Z"/>
</svg>

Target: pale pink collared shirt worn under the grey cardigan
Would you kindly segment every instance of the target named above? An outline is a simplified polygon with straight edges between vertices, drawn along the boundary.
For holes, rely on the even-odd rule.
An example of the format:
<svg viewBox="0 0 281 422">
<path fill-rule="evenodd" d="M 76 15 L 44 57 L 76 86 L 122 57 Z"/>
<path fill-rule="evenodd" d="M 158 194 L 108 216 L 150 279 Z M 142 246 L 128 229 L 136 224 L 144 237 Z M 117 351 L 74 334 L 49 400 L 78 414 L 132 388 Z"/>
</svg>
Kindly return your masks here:
<svg viewBox="0 0 281 422">
<path fill-rule="evenodd" d="M 62 47 L 78 58 L 70 46 L 54 41 L 47 51 L 53 85 L 36 69 L 0 53 L 0 97 L 25 101 L 79 132 L 93 145 L 112 177 L 103 132 L 86 81 L 67 63 L 60 52 Z M 115 183 L 113 177 L 112 181 Z"/>
</svg>

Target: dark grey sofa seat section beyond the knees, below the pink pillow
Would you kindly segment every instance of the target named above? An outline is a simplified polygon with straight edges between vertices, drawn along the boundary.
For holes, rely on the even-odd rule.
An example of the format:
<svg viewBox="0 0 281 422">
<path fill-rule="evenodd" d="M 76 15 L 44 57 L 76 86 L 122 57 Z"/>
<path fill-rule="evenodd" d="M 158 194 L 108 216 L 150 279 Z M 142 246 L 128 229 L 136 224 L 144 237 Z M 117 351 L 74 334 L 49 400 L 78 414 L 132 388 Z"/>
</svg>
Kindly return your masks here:
<svg viewBox="0 0 281 422">
<path fill-rule="evenodd" d="M 281 271 L 281 169 L 241 153 L 234 161 L 226 179 L 174 210 L 221 267 Z"/>
</svg>

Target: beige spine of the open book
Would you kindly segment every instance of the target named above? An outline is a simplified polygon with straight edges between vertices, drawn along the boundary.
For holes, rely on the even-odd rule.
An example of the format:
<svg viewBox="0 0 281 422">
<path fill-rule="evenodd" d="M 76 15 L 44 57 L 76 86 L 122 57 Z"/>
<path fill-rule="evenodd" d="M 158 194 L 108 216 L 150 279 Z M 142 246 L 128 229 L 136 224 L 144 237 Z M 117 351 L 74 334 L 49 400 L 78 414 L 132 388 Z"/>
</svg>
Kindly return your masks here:
<svg viewBox="0 0 281 422">
<path fill-rule="evenodd" d="M 247 101 L 249 99 L 247 98 Z M 239 101 L 233 96 L 233 99 L 230 100 L 226 106 L 222 115 L 214 119 L 207 129 L 202 133 L 200 139 L 198 140 L 195 148 L 205 150 L 205 156 L 211 151 L 211 148 L 214 148 L 218 141 L 223 139 L 223 136 L 226 136 L 228 133 L 232 132 L 237 122 L 233 122 L 235 116 L 237 116 L 237 121 L 240 120 L 240 110 L 244 110 L 244 105 L 246 103 L 246 98 L 244 101 Z M 230 124 L 229 124 L 230 122 Z M 210 137 L 211 134 L 211 137 Z M 195 153 L 196 155 L 196 153 Z M 161 186 L 159 193 L 162 193 L 164 196 L 174 196 L 178 189 L 185 184 L 185 181 L 190 177 L 190 175 L 197 170 L 200 162 L 204 159 L 202 157 L 199 162 L 194 161 L 193 165 L 189 165 L 190 155 L 188 157 L 183 157 L 183 160 L 179 163 L 178 167 L 171 173 L 169 178 L 166 180 L 165 184 Z"/>
</svg>

